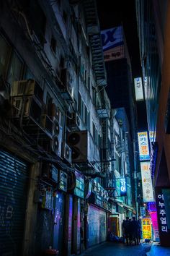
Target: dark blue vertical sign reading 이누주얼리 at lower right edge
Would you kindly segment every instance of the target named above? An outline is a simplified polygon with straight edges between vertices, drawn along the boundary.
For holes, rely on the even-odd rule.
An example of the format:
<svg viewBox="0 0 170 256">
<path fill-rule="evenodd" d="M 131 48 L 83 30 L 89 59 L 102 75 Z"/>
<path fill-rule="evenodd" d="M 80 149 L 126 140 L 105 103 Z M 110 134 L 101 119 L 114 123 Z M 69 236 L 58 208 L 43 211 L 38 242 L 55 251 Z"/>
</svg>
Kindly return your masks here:
<svg viewBox="0 0 170 256">
<path fill-rule="evenodd" d="M 170 239 L 170 229 L 167 223 L 166 205 L 162 191 L 163 189 L 161 187 L 156 187 L 155 190 L 160 242 L 161 245 L 168 246 Z"/>
</svg>

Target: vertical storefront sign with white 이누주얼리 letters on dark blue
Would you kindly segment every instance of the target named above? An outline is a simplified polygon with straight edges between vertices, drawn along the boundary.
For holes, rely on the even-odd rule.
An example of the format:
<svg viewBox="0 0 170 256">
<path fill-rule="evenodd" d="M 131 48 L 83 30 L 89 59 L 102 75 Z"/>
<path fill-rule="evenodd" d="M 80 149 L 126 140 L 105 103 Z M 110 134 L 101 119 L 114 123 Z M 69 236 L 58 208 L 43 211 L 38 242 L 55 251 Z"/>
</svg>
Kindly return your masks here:
<svg viewBox="0 0 170 256">
<path fill-rule="evenodd" d="M 158 225 L 160 234 L 168 233 L 168 226 L 166 220 L 166 208 L 164 203 L 164 195 L 161 188 L 156 188 L 156 207 L 158 214 Z"/>
</svg>

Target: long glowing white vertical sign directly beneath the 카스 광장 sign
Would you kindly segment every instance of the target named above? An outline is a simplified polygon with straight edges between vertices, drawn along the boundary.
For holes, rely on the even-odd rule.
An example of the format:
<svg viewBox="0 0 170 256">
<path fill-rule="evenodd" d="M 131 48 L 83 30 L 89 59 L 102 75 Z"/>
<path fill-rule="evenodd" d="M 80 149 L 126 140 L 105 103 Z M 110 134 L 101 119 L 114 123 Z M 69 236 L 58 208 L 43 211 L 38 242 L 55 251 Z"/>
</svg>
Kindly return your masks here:
<svg viewBox="0 0 170 256">
<path fill-rule="evenodd" d="M 150 171 L 150 162 L 140 162 L 142 176 L 143 202 L 153 202 L 153 186 Z"/>
</svg>

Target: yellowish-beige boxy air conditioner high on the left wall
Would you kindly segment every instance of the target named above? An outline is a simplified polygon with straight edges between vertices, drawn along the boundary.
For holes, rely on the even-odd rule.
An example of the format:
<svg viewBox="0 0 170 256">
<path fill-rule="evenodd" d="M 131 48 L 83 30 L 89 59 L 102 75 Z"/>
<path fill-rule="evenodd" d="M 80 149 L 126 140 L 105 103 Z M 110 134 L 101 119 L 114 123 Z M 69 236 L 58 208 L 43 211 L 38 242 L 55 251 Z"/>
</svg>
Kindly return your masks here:
<svg viewBox="0 0 170 256">
<path fill-rule="evenodd" d="M 39 101 L 43 101 L 43 90 L 40 85 L 35 80 L 21 80 L 21 81 L 14 81 L 11 90 L 12 97 L 15 96 L 32 96 L 35 97 Z"/>
</svg>

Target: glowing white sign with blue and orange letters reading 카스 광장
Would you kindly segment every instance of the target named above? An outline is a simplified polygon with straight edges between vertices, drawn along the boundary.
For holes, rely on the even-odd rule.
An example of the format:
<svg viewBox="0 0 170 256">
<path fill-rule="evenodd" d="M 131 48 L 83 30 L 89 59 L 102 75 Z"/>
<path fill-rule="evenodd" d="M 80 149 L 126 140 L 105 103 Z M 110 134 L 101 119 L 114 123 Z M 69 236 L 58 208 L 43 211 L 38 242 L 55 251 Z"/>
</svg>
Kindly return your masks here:
<svg viewBox="0 0 170 256">
<path fill-rule="evenodd" d="M 140 161 L 149 161 L 148 133 L 138 132 L 139 158 Z"/>
</svg>

